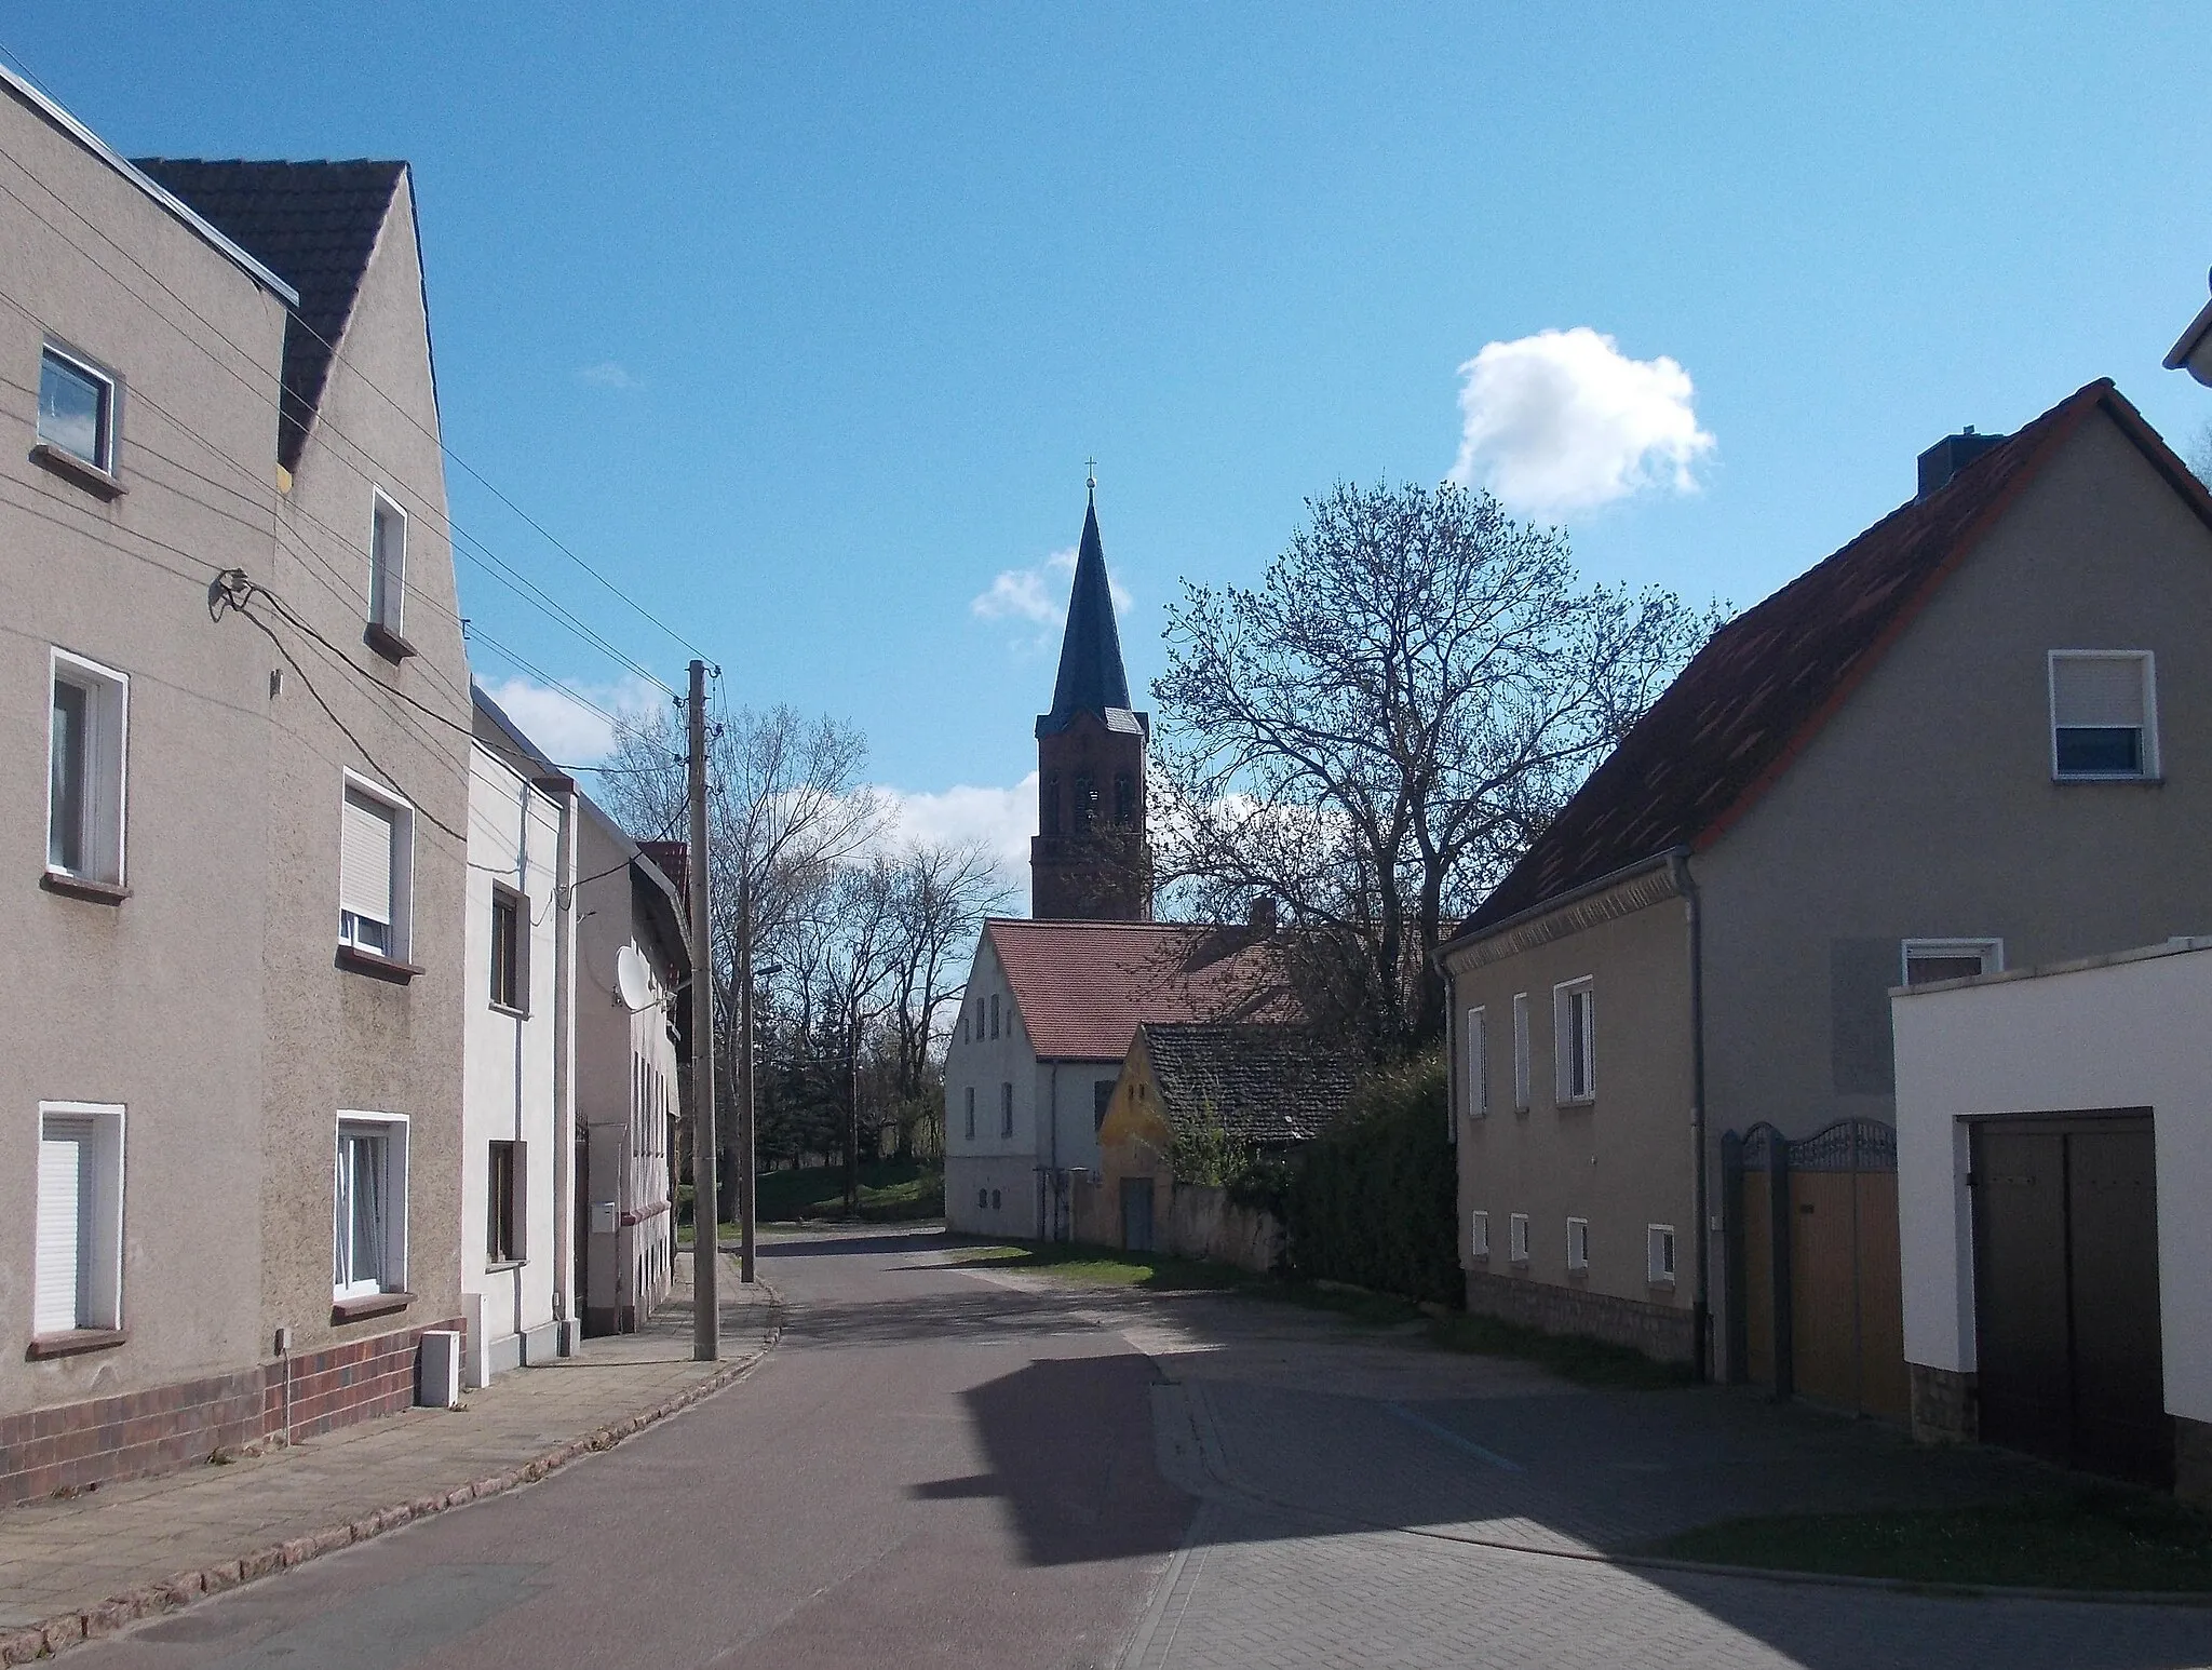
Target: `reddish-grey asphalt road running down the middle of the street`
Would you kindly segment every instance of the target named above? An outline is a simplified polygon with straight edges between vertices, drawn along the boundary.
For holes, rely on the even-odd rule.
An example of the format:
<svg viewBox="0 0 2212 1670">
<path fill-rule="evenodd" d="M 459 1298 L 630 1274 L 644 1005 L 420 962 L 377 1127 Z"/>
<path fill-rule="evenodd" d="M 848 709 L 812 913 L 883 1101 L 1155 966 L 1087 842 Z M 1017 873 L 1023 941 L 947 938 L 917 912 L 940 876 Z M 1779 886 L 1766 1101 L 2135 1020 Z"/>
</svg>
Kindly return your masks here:
<svg viewBox="0 0 2212 1670">
<path fill-rule="evenodd" d="M 77 1670 L 1110 1666 L 1194 1502 L 1155 1369 L 1073 1301 L 922 1256 L 772 1245 L 781 1347 L 524 1491 L 117 1639 Z"/>
</svg>

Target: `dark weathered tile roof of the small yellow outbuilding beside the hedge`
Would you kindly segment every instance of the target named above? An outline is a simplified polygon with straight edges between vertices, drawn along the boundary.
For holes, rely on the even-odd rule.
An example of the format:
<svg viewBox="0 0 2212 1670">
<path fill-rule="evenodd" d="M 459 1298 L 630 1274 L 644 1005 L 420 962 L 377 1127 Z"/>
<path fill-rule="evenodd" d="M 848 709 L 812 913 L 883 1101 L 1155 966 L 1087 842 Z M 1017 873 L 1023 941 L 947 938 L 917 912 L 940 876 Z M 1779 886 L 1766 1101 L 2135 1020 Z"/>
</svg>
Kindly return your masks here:
<svg viewBox="0 0 2212 1670">
<path fill-rule="evenodd" d="M 1175 1128 L 1212 1117 L 1243 1141 L 1285 1144 L 1310 1141 L 1345 1117 L 1352 1066 L 1301 1026 L 1137 1031 Z"/>
</svg>

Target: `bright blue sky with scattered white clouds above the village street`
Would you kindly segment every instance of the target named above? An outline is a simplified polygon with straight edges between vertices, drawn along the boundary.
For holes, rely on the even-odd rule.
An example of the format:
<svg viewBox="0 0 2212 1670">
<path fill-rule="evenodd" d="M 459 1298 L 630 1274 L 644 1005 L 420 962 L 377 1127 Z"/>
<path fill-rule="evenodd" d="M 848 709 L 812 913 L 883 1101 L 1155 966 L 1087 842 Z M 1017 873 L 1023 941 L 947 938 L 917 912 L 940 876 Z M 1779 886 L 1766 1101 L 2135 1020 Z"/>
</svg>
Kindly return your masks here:
<svg viewBox="0 0 2212 1670">
<path fill-rule="evenodd" d="M 2212 263 L 2205 40 L 2035 0 L 0 15 L 126 155 L 409 159 L 453 520 L 659 679 L 681 635 L 728 703 L 852 721 L 909 834 L 1009 865 L 1091 458 L 1141 690 L 1181 584 L 1256 582 L 1345 478 L 1747 606 L 2090 378 L 2201 445 L 2159 361 Z"/>
</svg>

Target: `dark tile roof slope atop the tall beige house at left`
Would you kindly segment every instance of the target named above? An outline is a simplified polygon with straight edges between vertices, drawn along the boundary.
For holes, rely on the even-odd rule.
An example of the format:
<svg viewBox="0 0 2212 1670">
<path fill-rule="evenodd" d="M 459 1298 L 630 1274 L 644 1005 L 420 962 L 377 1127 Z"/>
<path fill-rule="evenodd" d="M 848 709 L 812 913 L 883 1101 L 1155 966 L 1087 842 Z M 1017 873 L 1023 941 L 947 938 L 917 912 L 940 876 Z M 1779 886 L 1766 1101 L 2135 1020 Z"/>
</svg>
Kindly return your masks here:
<svg viewBox="0 0 2212 1670">
<path fill-rule="evenodd" d="M 383 232 L 405 161 L 192 161 L 137 157 L 137 168 L 299 290 L 283 334 L 276 462 L 299 469 L 307 427 L 330 378 Z"/>
</svg>

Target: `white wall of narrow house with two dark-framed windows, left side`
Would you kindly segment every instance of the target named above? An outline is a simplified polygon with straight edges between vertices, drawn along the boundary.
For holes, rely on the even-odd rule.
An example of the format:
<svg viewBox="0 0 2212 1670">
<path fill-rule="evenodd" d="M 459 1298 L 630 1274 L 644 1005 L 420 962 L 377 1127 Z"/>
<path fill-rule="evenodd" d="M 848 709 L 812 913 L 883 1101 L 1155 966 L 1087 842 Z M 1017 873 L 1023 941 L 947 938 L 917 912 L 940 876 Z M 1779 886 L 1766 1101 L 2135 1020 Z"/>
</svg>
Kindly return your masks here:
<svg viewBox="0 0 2212 1670">
<path fill-rule="evenodd" d="M 520 1360 L 520 1338 L 553 1327 L 557 1285 L 555 1214 L 564 1201 L 553 1188 L 562 1133 L 555 1121 L 560 1026 L 555 1015 L 557 936 L 566 920 L 555 909 L 560 863 L 560 803 L 526 783 L 482 745 L 469 750 L 469 920 L 460 1002 L 462 1031 L 462 1155 L 460 1155 L 460 1290 L 482 1316 L 482 1338 L 471 1340 L 480 1365 Z M 491 1004 L 491 898 L 498 885 L 522 894 L 524 1013 Z M 515 1179 L 522 1212 L 522 1263 L 487 1267 L 491 1205 L 491 1144 L 524 1144 L 524 1177 Z"/>
</svg>

